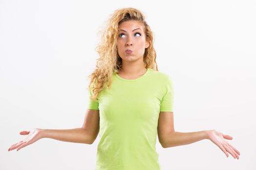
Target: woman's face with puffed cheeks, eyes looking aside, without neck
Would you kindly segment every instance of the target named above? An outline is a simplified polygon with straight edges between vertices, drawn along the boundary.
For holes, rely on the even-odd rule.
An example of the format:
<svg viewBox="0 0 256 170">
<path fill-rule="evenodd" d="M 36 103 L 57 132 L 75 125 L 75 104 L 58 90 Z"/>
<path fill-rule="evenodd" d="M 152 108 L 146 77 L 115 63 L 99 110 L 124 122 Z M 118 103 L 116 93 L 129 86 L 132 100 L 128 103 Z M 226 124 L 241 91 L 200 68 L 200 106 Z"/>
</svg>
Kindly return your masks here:
<svg viewBox="0 0 256 170">
<path fill-rule="evenodd" d="M 117 40 L 118 54 L 123 62 L 142 60 L 145 49 L 149 47 L 146 41 L 144 26 L 138 21 L 125 21 L 119 25 Z M 127 52 L 131 50 L 131 52 Z"/>
</svg>

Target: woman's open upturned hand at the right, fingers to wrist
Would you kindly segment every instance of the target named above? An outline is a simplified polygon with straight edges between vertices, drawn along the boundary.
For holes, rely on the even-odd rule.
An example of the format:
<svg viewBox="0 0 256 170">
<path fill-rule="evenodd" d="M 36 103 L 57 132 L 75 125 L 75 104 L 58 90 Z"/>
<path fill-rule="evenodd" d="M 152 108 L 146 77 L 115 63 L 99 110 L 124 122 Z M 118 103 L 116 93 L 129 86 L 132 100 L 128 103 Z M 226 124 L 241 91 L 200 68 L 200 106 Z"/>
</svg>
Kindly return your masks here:
<svg viewBox="0 0 256 170">
<path fill-rule="evenodd" d="M 226 154 L 227 157 L 229 157 L 228 153 L 230 153 L 234 158 L 239 159 L 239 151 L 225 140 L 232 140 L 232 136 L 223 135 L 222 133 L 215 130 L 209 130 L 207 131 L 207 139 L 210 139 L 215 145 L 217 145 Z"/>
</svg>

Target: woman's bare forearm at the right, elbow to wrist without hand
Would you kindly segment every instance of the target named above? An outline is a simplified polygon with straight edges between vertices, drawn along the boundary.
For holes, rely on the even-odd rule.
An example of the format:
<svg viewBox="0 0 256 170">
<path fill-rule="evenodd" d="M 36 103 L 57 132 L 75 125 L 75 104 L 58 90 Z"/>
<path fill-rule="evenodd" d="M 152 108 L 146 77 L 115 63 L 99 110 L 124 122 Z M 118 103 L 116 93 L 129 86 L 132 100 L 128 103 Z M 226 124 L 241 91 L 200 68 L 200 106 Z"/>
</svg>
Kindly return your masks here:
<svg viewBox="0 0 256 170">
<path fill-rule="evenodd" d="M 208 138 L 207 131 L 198 131 L 198 132 L 172 132 L 168 136 L 165 136 L 165 142 L 162 144 L 164 148 L 187 145 L 199 140 Z"/>
</svg>

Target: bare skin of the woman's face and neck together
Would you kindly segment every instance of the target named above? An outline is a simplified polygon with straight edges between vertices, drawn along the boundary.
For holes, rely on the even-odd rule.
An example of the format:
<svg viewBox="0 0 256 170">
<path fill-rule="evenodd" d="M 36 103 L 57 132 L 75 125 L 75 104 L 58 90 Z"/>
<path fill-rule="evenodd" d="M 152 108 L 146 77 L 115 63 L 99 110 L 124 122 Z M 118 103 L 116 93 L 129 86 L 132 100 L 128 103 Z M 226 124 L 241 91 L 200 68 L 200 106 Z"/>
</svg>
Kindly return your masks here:
<svg viewBox="0 0 256 170">
<path fill-rule="evenodd" d="M 145 49 L 149 47 L 144 33 L 144 25 L 138 21 L 125 21 L 119 25 L 119 30 L 117 49 L 122 58 L 122 68 L 118 75 L 125 79 L 141 77 L 147 71 L 143 55 Z M 127 54 L 127 49 L 131 50 L 132 53 Z"/>
</svg>

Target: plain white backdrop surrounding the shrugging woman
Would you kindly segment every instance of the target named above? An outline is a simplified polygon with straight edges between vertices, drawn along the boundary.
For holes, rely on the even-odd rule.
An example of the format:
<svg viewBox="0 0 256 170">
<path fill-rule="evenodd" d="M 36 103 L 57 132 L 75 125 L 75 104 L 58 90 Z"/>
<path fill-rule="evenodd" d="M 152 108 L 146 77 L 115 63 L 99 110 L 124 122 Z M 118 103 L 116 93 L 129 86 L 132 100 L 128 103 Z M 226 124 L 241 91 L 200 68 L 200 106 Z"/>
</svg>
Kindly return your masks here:
<svg viewBox="0 0 256 170">
<path fill-rule="evenodd" d="M 7 150 L 23 130 L 82 126 L 98 31 L 123 7 L 141 10 L 154 32 L 175 131 L 215 129 L 241 153 L 227 158 L 207 139 L 165 149 L 157 138 L 162 170 L 256 170 L 254 0 L 0 0 L 0 170 L 94 170 L 99 136 Z"/>
</svg>

